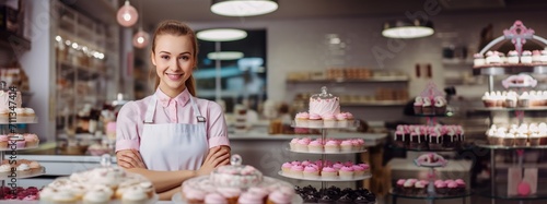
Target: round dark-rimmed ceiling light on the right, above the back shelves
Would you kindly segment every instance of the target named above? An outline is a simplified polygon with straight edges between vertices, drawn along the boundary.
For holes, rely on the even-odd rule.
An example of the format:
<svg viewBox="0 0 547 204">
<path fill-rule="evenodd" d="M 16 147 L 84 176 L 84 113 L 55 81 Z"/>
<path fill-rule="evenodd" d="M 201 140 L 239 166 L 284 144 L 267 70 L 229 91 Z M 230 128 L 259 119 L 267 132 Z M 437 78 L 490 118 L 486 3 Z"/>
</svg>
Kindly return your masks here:
<svg viewBox="0 0 547 204">
<path fill-rule="evenodd" d="M 386 22 L 382 31 L 382 35 L 388 38 L 418 38 L 433 33 L 433 23 L 420 20 Z"/>
</svg>

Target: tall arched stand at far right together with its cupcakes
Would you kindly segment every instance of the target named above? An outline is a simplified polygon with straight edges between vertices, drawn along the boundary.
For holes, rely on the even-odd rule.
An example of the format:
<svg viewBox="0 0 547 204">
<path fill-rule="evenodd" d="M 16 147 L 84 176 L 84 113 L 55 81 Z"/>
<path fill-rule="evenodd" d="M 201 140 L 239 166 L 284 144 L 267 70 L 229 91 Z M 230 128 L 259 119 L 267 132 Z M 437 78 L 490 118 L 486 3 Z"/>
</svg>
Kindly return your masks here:
<svg viewBox="0 0 547 204">
<path fill-rule="evenodd" d="M 504 43 L 514 45 L 514 50 L 509 51 L 507 57 L 496 51 Z M 547 147 L 547 141 L 542 142 L 544 131 L 539 129 L 535 131 L 531 128 L 535 127 L 536 122 L 544 121 L 543 118 L 547 116 L 547 107 L 543 103 L 535 103 L 536 98 L 538 98 L 537 101 L 543 100 L 542 97 L 536 97 L 536 93 L 540 96 L 543 91 L 535 89 L 538 82 L 533 77 L 546 73 L 547 50 L 532 52 L 525 50 L 525 44 L 535 44 L 543 48 L 547 45 L 547 40 L 535 35 L 535 32 L 524 26 L 521 21 L 515 21 L 509 29 L 503 31 L 502 36 L 490 41 L 479 53 L 475 55 L 473 72 L 488 77 L 488 93 L 490 93 L 482 97 L 485 108 L 479 108 L 479 110 L 491 112 L 489 115 L 491 128 L 486 131 L 488 141 L 476 142 L 478 147 L 490 152 L 490 187 L 478 190 L 477 193 L 490 197 L 492 203 L 499 200 L 514 200 L 521 203 L 526 200 L 547 200 L 547 193 L 538 188 L 543 182 L 537 172 L 540 169 L 539 165 L 524 165 L 526 153 L 543 152 Z M 484 55 L 486 55 L 485 59 Z M 491 93 L 500 93 L 500 91 L 496 92 L 494 76 L 503 75 L 509 75 L 501 82 L 504 88 L 502 91 L 508 95 L 496 94 L 492 97 Z M 511 96 L 511 93 L 515 93 L 516 97 Z M 534 93 L 533 97 L 532 93 Z M 492 104 L 492 98 L 499 103 Z M 513 120 L 513 122 L 504 122 L 508 129 L 497 127 L 499 124 L 494 119 L 499 118 L 494 113 L 499 112 L 507 112 L 509 119 Z M 538 118 L 534 120 L 534 117 Z M 525 127 L 526 130 L 513 129 L 516 127 Z M 502 131 L 505 129 L 508 131 Z M 498 167 L 501 164 L 497 164 L 496 156 L 500 153 L 514 154 L 516 159 L 509 166 Z M 507 177 L 503 179 L 505 170 Z M 498 173 L 502 177 L 498 177 Z"/>
</svg>

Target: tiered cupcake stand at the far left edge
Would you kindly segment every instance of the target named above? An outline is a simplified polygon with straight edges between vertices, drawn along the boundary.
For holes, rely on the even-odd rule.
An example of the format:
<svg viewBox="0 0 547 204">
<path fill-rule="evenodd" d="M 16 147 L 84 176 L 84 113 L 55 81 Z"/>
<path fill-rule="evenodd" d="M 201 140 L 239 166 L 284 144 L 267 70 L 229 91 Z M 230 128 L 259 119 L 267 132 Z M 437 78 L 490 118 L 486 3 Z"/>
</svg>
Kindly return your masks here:
<svg viewBox="0 0 547 204">
<path fill-rule="evenodd" d="M 38 123 L 37 117 L 34 118 L 34 121 L 30 121 L 30 122 L 18 122 L 18 121 L 1 122 L 0 129 L 1 129 L 2 133 L 8 134 L 10 132 L 16 132 L 16 129 L 15 129 L 16 124 L 31 124 L 31 123 Z M 21 140 L 24 140 L 24 139 L 21 139 Z M 8 159 L 8 160 L 10 160 L 10 164 L 15 164 L 14 161 L 18 159 L 18 155 L 16 155 L 18 151 L 33 149 L 33 148 L 38 147 L 38 146 L 16 147 L 15 145 L 10 145 L 10 141 L 8 142 L 8 148 L 0 148 L 0 161 L 2 161 L 2 163 L 4 161 L 4 159 Z M 4 154 L 4 152 L 8 152 L 8 154 Z M 5 158 L 5 156 L 8 156 L 8 158 Z M 12 177 L 11 173 L 15 175 L 15 177 Z M 1 187 L 10 187 L 10 188 L 15 187 L 16 188 L 19 179 L 42 176 L 42 175 L 46 173 L 46 168 L 40 167 L 40 169 L 38 169 L 36 171 L 32 171 L 30 173 L 25 173 L 25 175 L 18 175 L 19 173 L 18 171 L 13 171 L 11 173 L 10 173 L 10 176 L 0 176 L 0 180 L 2 182 Z M 4 193 L 3 191 L 0 191 L 0 196 L 3 197 L 3 193 Z"/>
</svg>

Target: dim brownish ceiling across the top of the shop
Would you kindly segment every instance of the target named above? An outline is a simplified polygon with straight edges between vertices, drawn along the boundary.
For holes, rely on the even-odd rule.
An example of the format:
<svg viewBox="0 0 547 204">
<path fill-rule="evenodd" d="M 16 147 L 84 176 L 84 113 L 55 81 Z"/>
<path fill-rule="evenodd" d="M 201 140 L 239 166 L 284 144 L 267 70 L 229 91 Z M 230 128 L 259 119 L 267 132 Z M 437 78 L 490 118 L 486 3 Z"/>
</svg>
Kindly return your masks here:
<svg viewBox="0 0 547 204">
<path fill-rule="evenodd" d="M 105 10 L 93 7 L 88 0 L 62 0 L 82 12 L 105 13 Z M 103 0 L 104 2 L 105 0 Z M 125 0 L 118 0 L 123 5 Z M 263 21 L 294 19 L 333 19 L 352 16 L 404 15 L 405 12 L 423 11 L 424 8 L 438 3 L 443 13 L 511 11 L 511 10 L 547 10 L 547 0 L 278 0 L 279 9 L 274 13 L 251 17 L 228 17 L 213 14 L 210 0 L 129 0 L 144 20 L 144 26 L 155 25 L 161 20 L 176 19 L 185 22 L 212 21 Z M 102 1 L 93 1 L 102 2 Z M 101 3 L 96 3 L 101 4 Z M 109 10 L 109 15 L 116 11 Z M 103 21 L 112 22 L 113 17 L 101 14 Z M 148 27 L 147 26 L 147 27 Z"/>
</svg>

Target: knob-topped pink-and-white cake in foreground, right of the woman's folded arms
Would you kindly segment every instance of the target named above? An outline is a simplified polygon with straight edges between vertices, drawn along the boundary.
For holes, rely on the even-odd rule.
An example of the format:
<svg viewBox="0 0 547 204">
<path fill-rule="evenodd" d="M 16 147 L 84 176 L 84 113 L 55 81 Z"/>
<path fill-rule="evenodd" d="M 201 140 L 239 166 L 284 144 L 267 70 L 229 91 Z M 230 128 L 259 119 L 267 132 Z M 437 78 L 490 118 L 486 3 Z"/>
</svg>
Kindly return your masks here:
<svg viewBox="0 0 547 204">
<path fill-rule="evenodd" d="M 253 166 L 242 165 L 240 155 L 232 155 L 230 165 L 214 169 L 209 179 L 216 187 L 247 189 L 263 182 L 263 172 Z"/>
</svg>

